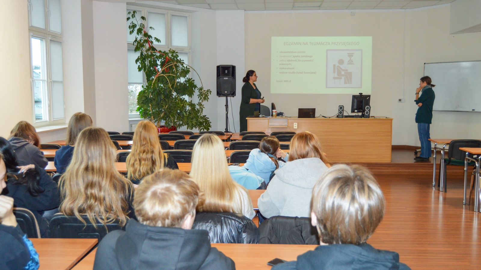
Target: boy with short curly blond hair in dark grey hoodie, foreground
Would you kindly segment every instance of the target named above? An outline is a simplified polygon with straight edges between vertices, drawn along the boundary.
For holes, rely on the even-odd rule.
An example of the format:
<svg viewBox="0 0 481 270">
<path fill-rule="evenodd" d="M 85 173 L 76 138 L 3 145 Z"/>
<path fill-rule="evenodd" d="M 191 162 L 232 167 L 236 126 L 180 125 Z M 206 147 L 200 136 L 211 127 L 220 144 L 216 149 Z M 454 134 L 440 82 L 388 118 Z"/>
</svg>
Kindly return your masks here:
<svg viewBox="0 0 481 270">
<path fill-rule="evenodd" d="M 94 270 L 235 269 L 232 259 L 211 247 L 205 230 L 191 230 L 201 192 L 190 176 L 165 169 L 145 177 L 135 191 L 139 221 L 108 233 Z"/>
</svg>

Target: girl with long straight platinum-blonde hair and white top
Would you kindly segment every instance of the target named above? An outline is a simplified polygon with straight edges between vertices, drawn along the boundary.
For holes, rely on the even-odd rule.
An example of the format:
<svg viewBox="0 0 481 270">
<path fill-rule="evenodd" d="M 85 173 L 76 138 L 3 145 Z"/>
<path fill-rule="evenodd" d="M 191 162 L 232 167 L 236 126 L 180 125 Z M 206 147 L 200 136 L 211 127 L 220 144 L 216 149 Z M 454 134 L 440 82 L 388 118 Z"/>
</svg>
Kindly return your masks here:
<svg viewBox="0 0 481 270">
<path fill-rule="evenodd" d="M 202 135 L 194 145 L 190 170 L 190 176 L 204 194 L 197 211 L 242 214 L 240 191 L 247 193 L 247 189 L 232 180 L 227 166 L 224 145 L 219 137 Z"/>
</svg>

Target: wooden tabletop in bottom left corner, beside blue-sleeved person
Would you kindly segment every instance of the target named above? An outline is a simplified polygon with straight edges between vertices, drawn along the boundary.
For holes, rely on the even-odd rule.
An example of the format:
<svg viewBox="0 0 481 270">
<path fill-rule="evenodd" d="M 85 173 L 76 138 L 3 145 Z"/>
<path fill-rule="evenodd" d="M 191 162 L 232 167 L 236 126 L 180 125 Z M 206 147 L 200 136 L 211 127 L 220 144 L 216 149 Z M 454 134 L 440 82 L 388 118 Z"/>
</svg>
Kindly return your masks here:
<svg viewBox="0 0 481 270">
<path fill-rule="evenodd" d="M 38 253 L 39 269 L 71 269 L 97 239 L 30 238 Z M 93 268 L 93 263 L 92 263 Z"/>
</svg>

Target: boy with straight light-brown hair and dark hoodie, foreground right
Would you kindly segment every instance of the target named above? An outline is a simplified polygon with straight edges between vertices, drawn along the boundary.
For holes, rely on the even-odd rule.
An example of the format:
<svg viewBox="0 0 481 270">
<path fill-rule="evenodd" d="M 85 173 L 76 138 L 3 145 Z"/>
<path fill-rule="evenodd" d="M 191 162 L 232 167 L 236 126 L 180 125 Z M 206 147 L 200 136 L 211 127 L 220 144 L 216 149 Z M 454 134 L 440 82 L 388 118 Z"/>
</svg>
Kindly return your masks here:
<svg viewBox="0 0 481 270">
<path fill-rule="evenodd" d="M 332 166 L 312 191 L 311 223 L 321 245 L 272 270 L 409 269 L 396 252 L 366 243 L 384 216 L 384 204 L 384 195 L 366 168 Z"/>
</svg>

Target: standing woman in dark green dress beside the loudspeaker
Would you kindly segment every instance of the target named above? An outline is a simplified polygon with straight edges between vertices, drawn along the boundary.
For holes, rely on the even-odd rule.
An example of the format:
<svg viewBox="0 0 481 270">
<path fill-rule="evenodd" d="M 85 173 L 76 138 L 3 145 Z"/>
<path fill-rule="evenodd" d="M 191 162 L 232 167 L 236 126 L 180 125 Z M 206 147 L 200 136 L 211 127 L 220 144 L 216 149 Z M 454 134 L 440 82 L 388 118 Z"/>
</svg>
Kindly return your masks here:
<svg viewBox="0 0 481 270">
<path fill-rule="evenodd" d="M 247 131 L 247 119 L 245 118 L 252 115 L 259 115 L 261 103 L 265 101 L 261 99 L 261 92 L 254 84 L 256 81 L 257 74 L 255 74 L 253 70 L 248 71 L 245 77 L 242 78 L 244 86 L 242 86 L 241 109 L 239 111 L 241 122 L 240 132 Z"/>
</svg>

